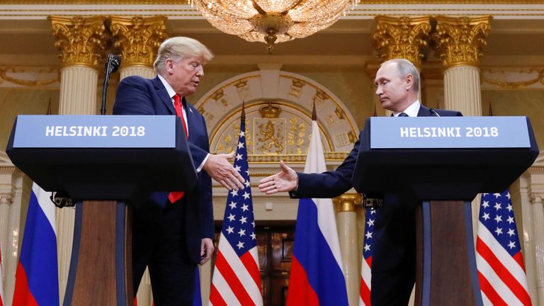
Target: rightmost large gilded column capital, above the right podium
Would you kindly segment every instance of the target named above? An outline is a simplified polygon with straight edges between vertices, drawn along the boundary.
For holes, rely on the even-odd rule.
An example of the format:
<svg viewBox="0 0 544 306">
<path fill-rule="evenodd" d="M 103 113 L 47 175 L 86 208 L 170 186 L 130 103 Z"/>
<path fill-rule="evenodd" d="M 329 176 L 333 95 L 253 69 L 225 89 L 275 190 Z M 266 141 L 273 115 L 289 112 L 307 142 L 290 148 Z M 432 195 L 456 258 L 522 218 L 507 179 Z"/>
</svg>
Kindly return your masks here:
<svg viewBox="0 0 544 306">
<path fill-rule="evenodd" d="M 492 16 L 436 16 L 435 19 L 436 30 L 431 35 L 431 41 L 443 67 L 477 66 L 487 45 L 485 38 L 491 30 Z"/>
</svg>

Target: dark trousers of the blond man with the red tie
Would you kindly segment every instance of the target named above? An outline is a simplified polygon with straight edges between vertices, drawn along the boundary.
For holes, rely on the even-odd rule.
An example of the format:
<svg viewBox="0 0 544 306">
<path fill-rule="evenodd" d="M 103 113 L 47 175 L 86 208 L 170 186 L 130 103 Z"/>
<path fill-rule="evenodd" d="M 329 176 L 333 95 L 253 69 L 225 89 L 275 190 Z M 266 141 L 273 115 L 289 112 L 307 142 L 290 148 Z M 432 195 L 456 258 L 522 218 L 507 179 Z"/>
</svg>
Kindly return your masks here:
<svg viewBox="0 0 544 306">
<path fill-rule="evenodd" d="M 146 203 L 134 213 L 132 288 L 137 293 L 146 266 L 154 305 L 193 305 L 196 263 L 188 256 L 185 200 L 160 208 Z"/>
</svg>

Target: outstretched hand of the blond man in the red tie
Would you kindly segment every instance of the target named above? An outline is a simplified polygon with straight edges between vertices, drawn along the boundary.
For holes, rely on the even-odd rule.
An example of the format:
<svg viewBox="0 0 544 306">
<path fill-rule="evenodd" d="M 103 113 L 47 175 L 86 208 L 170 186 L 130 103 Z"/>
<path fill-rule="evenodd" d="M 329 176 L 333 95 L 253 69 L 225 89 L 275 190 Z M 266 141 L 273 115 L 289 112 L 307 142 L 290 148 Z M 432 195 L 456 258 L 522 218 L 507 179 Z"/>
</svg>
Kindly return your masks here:
<svg viewBox="0 0 544 306">
<path fill-rule="evenodd" d="M 234 158 L 234 153 L 235 152 L 232 152 L 231 154 L 210 154 L 202 167 L 212 179 L 218 181 L 229 191 L 232 189 L 244 189 L 244 182 L 246 181 L 229 162 Z"/>
</svg>

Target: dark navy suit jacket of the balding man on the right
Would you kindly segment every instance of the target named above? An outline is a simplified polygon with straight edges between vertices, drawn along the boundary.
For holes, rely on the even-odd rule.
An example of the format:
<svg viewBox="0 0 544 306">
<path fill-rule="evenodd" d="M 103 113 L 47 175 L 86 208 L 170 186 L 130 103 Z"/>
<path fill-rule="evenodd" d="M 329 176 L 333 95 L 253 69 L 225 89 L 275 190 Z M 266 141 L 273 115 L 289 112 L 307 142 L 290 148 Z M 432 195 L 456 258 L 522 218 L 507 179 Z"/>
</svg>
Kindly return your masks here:
<svg viewBox="0 0 544 306">
<path fill-rule="evenodd" d="M 460 116 L 458 111 L 435 110 L 442 116 Z M 421 106 L 418 117 L 435 115 L 430 108 Z M 361 139 L 363 131 L 359 134 Z M 291 198 L 335 198 L 353 186 L 351 176 L 359 153 L 359 140 L 344 162 L 336 170 L 322 174 L 298 174 L 298 188 L 290 192 Z M 414 208 L 415 199 L 400 199 L 394 193 L 384 195 L 384 207 L 378 208 L 374 223 L 374 251 L 372 261 L 373 273 L 392 271 L 403 266 L 414 266 L 415 232 Z M 412 267 L 414 268 L 414 267 Z"/>
</svg>

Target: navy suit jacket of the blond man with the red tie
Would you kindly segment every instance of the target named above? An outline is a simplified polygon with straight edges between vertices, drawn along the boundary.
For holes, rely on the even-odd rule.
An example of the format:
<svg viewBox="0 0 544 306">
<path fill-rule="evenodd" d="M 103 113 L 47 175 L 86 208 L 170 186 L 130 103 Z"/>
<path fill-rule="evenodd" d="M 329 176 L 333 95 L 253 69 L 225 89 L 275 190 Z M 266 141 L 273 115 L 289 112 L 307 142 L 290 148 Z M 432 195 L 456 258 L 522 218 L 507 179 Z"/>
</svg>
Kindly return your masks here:
<svg viewBox="0 0 544 306">
<path fill-rule="evenodd" d="M 202 164 L 210 145 L 205 120 L 200 113 L 186 103 L 188 145 L 191 149 L 193 164 Z M 176 115 L 174 104 L 159 77 L 144 79 L 132 76 L 123 79 L 117 89 L 114 115 Z M 212 181 L 205 171 L 198 173 L 198 187 L 186 192 L 185 232 L 191 260 L 200 263 L 200 241 L 203 238 L 214 239 L 212 208 Z M 147 199 L 146 205 L 159 205 L 164 208 L 168 193 L 156 192 Z M 182 221 L 182 220 L 180 220 Z"/>
</svg>

